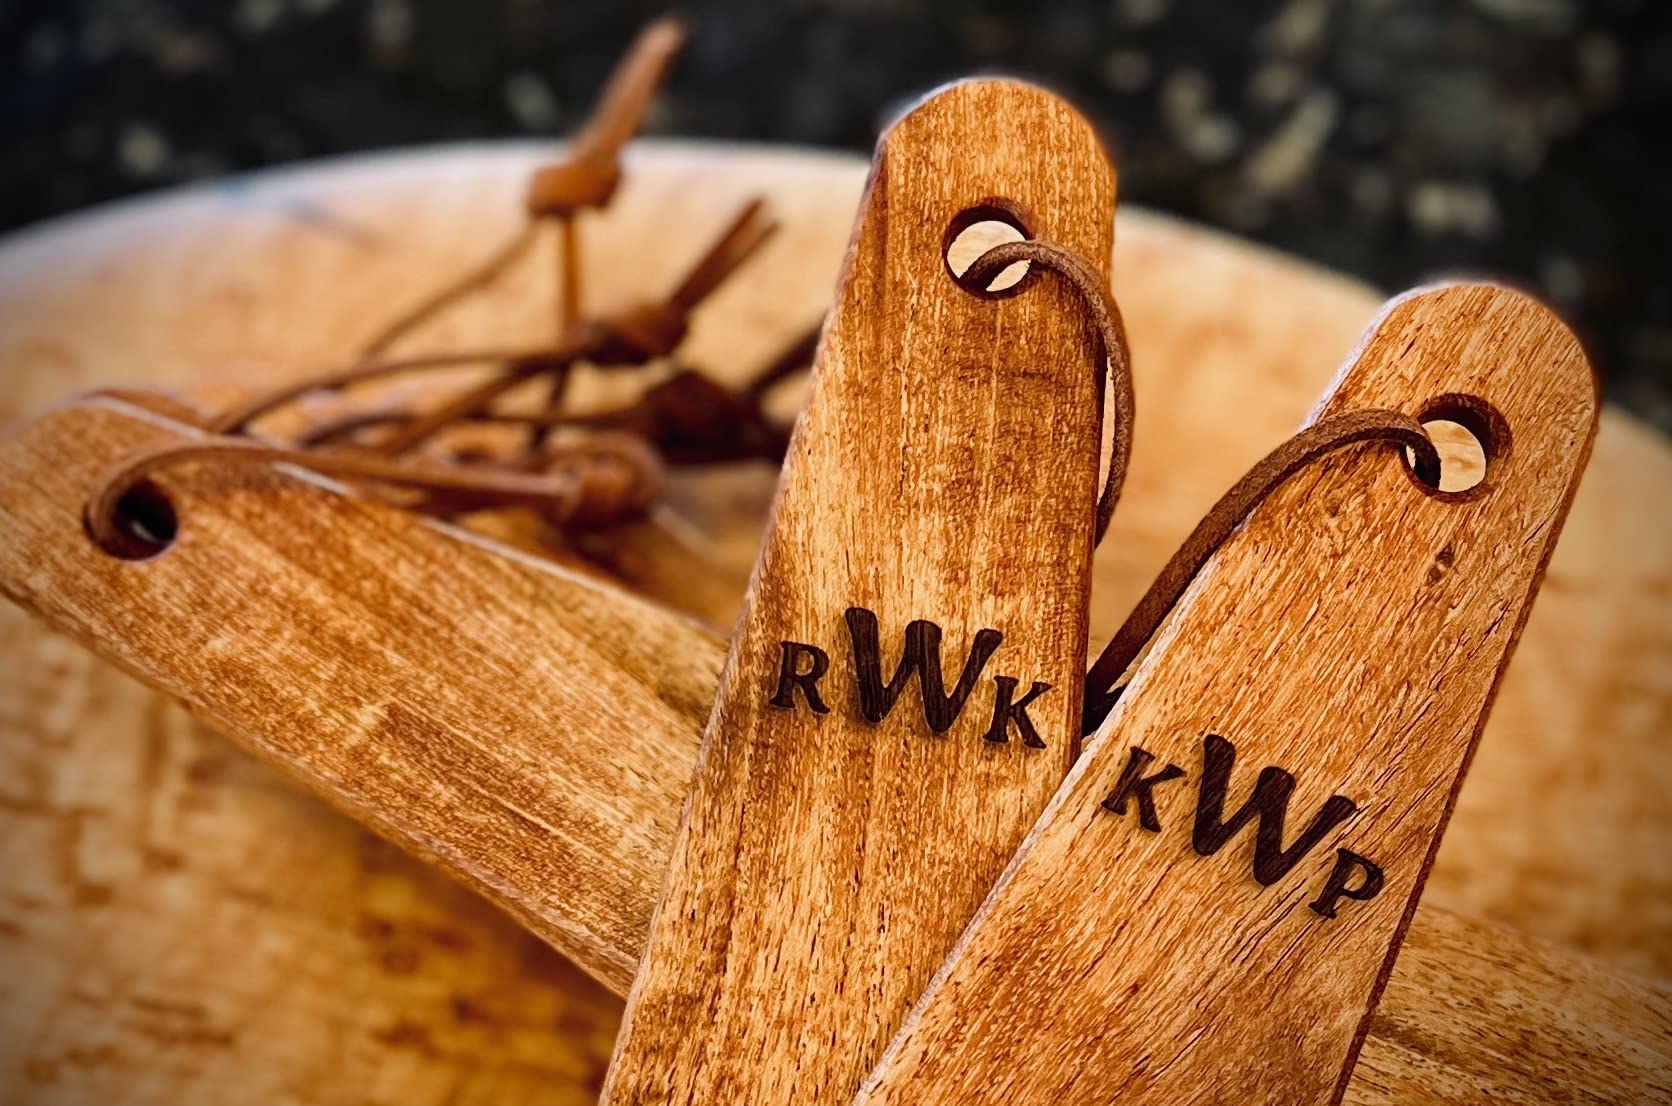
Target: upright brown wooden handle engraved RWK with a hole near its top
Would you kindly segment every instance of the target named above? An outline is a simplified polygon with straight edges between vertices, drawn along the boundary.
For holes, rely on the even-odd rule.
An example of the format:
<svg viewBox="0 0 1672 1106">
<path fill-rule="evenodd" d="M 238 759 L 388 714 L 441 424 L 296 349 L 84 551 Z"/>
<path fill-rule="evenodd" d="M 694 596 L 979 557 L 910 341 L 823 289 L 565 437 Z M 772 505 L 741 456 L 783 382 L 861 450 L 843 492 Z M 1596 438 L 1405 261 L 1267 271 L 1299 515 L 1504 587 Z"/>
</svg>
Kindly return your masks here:
<svg viewBox="0 0 1672 1106">
<path fill-rule="evenodd" d="M 1102 269 L 1114 186 L 1090 125 L 1008 80 L 943 89 L 878 144 L 605 1103 L 851 1094 L 1067 773 L 1102 351 L 1070 288 L 971 294 L 945 244 L 1003 204 Z M 900 688 L 908 641 L 925 668 Z M 941 673 L 961 706 L 935 709 Z M 1037 735 L 998 678 L 1043 684 Z"/>
</svg>

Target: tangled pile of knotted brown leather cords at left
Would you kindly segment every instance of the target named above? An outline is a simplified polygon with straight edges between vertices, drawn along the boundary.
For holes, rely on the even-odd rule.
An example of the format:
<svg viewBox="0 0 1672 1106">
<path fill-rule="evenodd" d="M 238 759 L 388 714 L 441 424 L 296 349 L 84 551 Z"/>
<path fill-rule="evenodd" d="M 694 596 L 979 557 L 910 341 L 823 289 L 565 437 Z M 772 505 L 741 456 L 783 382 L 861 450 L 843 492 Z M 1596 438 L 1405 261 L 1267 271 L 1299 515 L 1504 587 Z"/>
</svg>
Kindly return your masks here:
<svg viewBox="0 0 1672 1106">
<path fill-rule="evenodd" d="M 632 305 L 607 316 L 584 318 L 579 311 L 575 216 L 585 207 L 609 202 L 622 176 L 622 147 L 642 124 L 650 99 L 667 77 L 686 37 L 684 23 L 672 17 L 647 25 L 563 161 L 533 174 L 525 224 L 463 278 L 385 325 L 354 365 L 283 385 L 219 415 L 202 415 L 155 397 L 130 397 L 130 402 L 196 427 L 209 437 L 159 447 L 117 465 L 85 504 L 89 532 L 100 545 L 117 552 L 122 525 L 144 529 L 137 515 L 119 519 L 122 500 L 150 474 L 189 462 L 289 463 L 346 480 L 418 490 L 420 495 L 403 500 L 415 510 L 448 515 L 483 505 L 520 504 L 545 510 L 568 529 L 590 529 L 645 510 L 659 485 L 664 457 L 672 457 L 675 463 L 702 463 L 781 453 L 784 428 L 766 415 L 759 395 L 732 395 L 692 371 L 675 373 L 627 408 L 580 415 L 562 410 L 568 378 L 580 363 L 617 370 L 670 358 L 686 340 L 691 313 L 752 258 L 776 229 L 762 201 L 752 199 L 732 216 L 664 300 Z M 385 351 L 395 341 L 518 264 L 535 244 L 538 224 L 545 221 L 558 226 L 562 271 L 555 343 L 523 350 L 386 356 Z M 256 420 L 309 392 L 338 392 L 401 373 L 475 365 L 492 366 L 493 371 L 431 410 L 351 413 L 303 430 L 294 443 L 247 437 Z M 548 381 L 543 410 L 533 415 L 493 410 L 498 397 L 538 378 Z M 413 455 L 450 427 L 493 422 L 523 422 L 528 427 L 525 445 L 495 455 Z M 577 442 L 550 448 L 548 435 L 560 427 L 585 433 L 577 435 Z M 346 438 L 371 428 L 380 430 L 373 440 L 349 447 Z M 333 448 L 326 448 L 328 445 Z"/>
</svg>

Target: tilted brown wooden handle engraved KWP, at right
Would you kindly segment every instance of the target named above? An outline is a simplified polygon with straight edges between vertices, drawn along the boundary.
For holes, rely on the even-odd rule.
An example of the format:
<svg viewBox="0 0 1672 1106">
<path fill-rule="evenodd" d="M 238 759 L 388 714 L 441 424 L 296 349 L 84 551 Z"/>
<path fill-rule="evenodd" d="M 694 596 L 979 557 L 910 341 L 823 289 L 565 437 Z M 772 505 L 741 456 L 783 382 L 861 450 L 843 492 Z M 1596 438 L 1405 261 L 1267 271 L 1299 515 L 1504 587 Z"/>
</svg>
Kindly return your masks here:
<svg viewBox="0 0 1672 1106">
<path fill-rule="evenodd" d="M 1486 447 L 1485 480 L 1428 492 L 1398 450 L 1354 447 L 1267 499 L 856 1101 L 1338 1103 L 1590 453 L 1593 397 L 1577 338 L 1520 293 L 1391 305 L 1319 418 L 1446 415 Z"/>
</svg>

